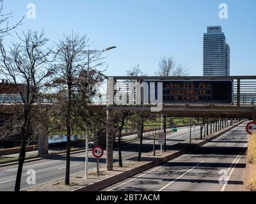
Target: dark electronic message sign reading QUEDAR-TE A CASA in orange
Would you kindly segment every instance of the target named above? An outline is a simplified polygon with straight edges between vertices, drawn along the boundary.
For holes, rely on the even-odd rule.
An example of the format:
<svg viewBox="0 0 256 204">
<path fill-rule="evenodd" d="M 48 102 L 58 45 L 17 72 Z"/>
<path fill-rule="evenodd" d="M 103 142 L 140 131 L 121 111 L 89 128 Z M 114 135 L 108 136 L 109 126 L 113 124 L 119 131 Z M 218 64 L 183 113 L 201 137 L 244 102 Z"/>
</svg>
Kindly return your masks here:
<svg viewBox="0 0 256 204">
<path fill-rule="evenodd" d="M 163 103 L 233 103 L 232 80 L 173 80 L 144 81 L 155 83 L 157 99 L 157 82 L 163 83 Z"/>
</svg>

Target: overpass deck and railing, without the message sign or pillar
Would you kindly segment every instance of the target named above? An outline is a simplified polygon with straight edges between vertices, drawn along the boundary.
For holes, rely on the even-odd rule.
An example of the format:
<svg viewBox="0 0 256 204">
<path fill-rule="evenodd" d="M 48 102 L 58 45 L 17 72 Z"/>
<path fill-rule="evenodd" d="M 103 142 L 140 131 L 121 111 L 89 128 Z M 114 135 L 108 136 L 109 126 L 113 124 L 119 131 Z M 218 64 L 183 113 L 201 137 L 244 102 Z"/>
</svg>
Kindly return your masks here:
<svg viewBox="0 0 256 204">
<path fill-rule="evenodd" d="M 106 77 L 107 80 L 113 80 L 113 87 L 108 83 L 108 90 L 112 90 L 114 94 L 107 93 L 107 103 L 104 101 L 99 104 L 102 108 L 108 110 L 143 110 L 150 111 L 152 105 L 136 104 L 138 95 L 141 91 L 136 90 L 136 85 L 132 87 L 131 83 L 147 82 L 221 82 L 231 81 L 232 89 L 230 94 L 232 96 L 231 103 L 214 103 L 214 101 L 204 100 L 200 103 L 195 101 L 177 101 L 177 103 L 164 103 L 163 108 L 159 113 L 168 113 L 170 117 L 255 117 L 256 112 L 256 76 L 233 76 L 233 77 Z M 134 88 L 135 87 L 135 88 Z M 131 90 L 134 88 L 133 90 Z M 186 89 L 187 90 L 187 89 Z M 116 105 L 115 93 L 119 91 L 122 96 L 125 96 L 128 101 L 132 103 L 122 103 Z M 220 91 L 220 90 L 218 90 Z M 218 93 L 217 93 L 218 94 Z M 113 98 L 114 96 L 114 98 Z M 118 94 L 120 97 L 120 94 Z M 109 105 L 110 101 L 114 101 Z M 123 101 L 125 100 L 123 99 Z M 118 101 L 118 100 L 117 100 Z M 137 101 L 138 102 L 138 101 Z"/>
</svg>

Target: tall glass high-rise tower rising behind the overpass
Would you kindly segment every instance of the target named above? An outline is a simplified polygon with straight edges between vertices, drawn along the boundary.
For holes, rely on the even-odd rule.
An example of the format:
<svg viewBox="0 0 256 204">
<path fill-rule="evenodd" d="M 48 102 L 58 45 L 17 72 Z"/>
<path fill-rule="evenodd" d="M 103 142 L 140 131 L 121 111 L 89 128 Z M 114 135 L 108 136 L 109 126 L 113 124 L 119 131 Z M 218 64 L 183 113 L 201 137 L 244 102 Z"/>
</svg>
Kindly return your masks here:
<svg viewBox="0 0 256 204">
<path fill-rule="evenodd" d="M 204 76 L 230 75 L 230 47 L 221 26 L 207 27 L 204 33 Z"/>
</svg>

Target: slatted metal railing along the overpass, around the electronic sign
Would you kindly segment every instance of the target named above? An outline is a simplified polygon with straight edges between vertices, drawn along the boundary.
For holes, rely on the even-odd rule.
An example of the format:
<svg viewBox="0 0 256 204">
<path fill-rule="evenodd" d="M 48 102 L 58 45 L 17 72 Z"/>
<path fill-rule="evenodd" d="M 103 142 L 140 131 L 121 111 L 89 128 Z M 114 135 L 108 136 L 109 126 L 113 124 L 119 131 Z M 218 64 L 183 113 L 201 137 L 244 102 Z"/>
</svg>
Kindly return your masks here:
<svg viewBox="0 0 256 204">
<path fill-rule="evenodd" d="M 230 76 L 230 77 L 105 77 L 107 80 L 113 80 L 113 87 L 109 87 L 108 90 L 114 92 L 113 98 L 110 101 L 119 101 L 122 102 L 122 105 L 136 105 L 136 99 L 138 97 L 136 87 L 132 87 L 129 82 L 143 82 L 147 81 L 186 81 L 186 80 L 232 80 L 233 90 L 232 98 L 233 103 L 231 106 L 250 106 L 256 107 L 256 76 Z M 118 94 L 116 94 L 118 92 Z M 109 92 L 104 93 L 106 101 L 109 102 Z M 103 101 L 101 101 L 103 104 Z M 207 104 L 198 104 L 198 103 L 186 103 L 187 105 L 211 105 Z M 185 105 L 186 105 L 185 104 Z M 172 103 L 168 103 L 172 105 Z M 175 103 L 175 105 L 178 105 Z M 181 105 L 181 104 L 180 104 Z M 184 103 L 182 103 L 184 105 Z M 212 103 L 212 105 L 218 105 Z M 229 105 L 230 106 L 230 105 Z"/>
</svg>

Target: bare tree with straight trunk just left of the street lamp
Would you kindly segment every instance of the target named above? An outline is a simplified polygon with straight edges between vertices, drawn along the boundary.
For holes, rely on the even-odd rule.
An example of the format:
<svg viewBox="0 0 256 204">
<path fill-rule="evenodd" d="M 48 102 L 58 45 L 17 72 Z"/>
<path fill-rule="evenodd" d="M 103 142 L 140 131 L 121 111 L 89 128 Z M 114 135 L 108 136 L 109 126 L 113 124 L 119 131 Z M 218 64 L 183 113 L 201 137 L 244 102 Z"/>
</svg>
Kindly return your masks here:
<svg viewBox="0 0 256 204">
<path fill-rule="evenodd" d="M 88 103 L 90 94 L 93 92 L 93 85 L 102 77 L 102 73 L 95 69 L 102 65 L 100 54 L 93 54 L 89 59 L 88 68 L 87 54 L 84 52 L 88 45 L 86 35 L 70 34 L 64 36 L 57 44 L 57 57 L 55 68 L 54 87 L 56 90 L 56 122 L 67 136 L 67 163 L 65 184 L 70 183 L 70 137 L 74 130 L 79 127 L 80 131 L 86 131 L 89 126 L 87 118 Z M 77 115 L 79 111 L 80 115 Z M 83 120 L 79 120 L 83 119 Z M 85 121 L 82 124 L 79 121 Z"/>
</svg>

